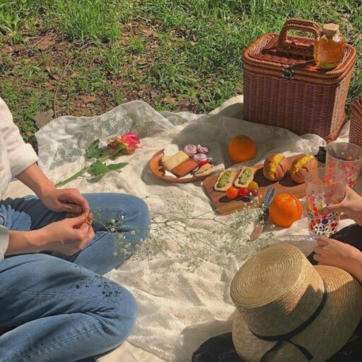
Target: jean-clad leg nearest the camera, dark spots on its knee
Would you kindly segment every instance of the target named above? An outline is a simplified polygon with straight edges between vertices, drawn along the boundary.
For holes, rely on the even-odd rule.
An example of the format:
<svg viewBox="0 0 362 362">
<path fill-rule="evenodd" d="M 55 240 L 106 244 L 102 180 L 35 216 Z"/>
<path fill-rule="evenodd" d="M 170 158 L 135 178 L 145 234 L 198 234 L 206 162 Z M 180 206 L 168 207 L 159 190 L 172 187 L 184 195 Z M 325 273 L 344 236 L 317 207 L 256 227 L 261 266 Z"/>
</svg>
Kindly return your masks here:
<svg viewBox="0 0 362 362">
<path fill-rule="evenodd" d="M 0 262 L 0 361 L 74 362 L 115 349 L 136 319 L 125 288 L 50 255 Z"/>
</svg>

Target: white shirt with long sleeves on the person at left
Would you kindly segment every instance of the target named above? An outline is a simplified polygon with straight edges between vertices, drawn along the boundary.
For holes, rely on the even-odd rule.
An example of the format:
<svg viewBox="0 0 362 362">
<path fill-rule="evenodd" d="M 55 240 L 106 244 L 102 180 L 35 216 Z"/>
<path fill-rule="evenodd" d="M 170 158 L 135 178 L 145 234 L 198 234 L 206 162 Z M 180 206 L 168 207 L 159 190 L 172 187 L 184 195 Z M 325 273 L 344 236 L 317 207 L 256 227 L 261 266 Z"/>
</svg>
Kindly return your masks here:
<svg viewBox="0 0 362 362">
<path fill-rule="evenodd" d="M 8 106 L 0 98 L 0 199 L 12 177 L 19 175 L 38 160 L 30 144 L 25 144 L 13 122 Z M 0 261 L 8 248 L 8 231 L 0 226 Z"/>
</svg>

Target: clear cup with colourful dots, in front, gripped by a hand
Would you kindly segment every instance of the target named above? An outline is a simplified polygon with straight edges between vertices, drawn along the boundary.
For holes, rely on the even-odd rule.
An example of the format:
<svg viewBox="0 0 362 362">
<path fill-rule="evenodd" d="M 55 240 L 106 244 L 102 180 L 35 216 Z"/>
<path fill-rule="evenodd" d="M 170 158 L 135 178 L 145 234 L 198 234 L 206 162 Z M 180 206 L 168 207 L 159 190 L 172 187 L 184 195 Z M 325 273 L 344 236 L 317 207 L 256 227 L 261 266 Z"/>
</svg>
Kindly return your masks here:
<svg viewBox="0 0 362 362">
<path fill-rule="evenodd" d="M 344 199 L 347 176 L 342 170 L 317 168 L 305 175 L 308 229 L 312 238 L 329 238 L 337 231 L 339 213 L 323 214 L 329 204 L 338 204 Z"/>
</svg>

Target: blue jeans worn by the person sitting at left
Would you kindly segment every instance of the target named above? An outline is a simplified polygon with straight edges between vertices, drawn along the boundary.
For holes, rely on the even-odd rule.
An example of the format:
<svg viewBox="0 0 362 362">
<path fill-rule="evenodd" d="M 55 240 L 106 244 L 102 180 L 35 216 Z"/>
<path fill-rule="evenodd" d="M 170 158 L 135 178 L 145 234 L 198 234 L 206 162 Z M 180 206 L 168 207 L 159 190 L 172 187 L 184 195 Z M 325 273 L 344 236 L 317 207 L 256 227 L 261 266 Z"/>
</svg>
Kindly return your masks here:
<svg viewBox="0 0 362 362">
<path fill-rule="evenodd" d="M 78 361 L 115 349 L 132 331 L 134 297 L 100 274 L 129 257 L 119 252 L 122 245 L 146 238 L 147 206 L 127 194 L 84 197 L 93 211 L 95 238 L 81 252 L 0 262 L 0 328 L 8 331 L 0 337 L 0 361 Z M 64 217 L 35 197 L 0 203 L 0 224 L 9 230 L 35 230 Z"/>
</svg>

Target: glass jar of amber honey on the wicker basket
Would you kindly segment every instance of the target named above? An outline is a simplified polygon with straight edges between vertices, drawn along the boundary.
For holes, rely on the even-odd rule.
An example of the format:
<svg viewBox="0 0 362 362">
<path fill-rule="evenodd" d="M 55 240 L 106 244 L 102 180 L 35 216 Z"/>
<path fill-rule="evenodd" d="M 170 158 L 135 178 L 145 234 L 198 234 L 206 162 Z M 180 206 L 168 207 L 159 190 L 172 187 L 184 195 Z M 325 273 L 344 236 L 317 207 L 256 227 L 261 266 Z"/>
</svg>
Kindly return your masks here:
<svg viewBox="0 0 362 362">
<path fill-rule="evenodd" d="M 339 33 L 339 25 L 323 25 L 322 32 L 315 40 L 313 52 L 315 63 L 322 69 L 333 69 L 341 62 L 344 56 L 344 38 Z"/>
</svg>

